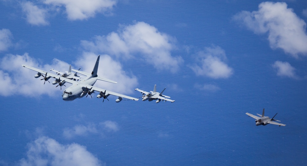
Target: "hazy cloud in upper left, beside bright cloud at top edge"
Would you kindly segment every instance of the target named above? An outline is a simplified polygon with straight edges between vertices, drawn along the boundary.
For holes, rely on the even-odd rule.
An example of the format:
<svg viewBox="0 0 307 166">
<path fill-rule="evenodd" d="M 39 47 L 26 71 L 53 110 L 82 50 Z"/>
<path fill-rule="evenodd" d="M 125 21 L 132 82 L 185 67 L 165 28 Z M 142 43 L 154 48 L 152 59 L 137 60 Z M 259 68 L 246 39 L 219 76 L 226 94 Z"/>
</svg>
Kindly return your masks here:
<svg viewBox="0 0 307 166">
<path fill-rule="evenodd" d="M 46 20 L 48 11 L 46 9 L 39 8 L 32 2 L 26 1 L 21 3 L 22 11 L 26 15 L 26 20 L 32 25 L 48 25 Z"/>
</svg>

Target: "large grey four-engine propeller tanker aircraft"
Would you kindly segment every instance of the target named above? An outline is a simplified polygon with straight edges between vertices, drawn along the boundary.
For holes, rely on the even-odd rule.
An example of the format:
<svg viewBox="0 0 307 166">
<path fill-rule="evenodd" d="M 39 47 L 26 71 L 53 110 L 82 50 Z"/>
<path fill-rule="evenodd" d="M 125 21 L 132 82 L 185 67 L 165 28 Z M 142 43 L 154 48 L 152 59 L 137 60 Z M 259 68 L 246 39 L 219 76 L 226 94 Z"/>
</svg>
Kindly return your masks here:
<svg viewBox="0 0 307 166">
<path fill-rule="evenodd" d="M 50 79 L 52 77 L 52 78 L 55 78 L 55 79 L 59 79 L 61 81 L 71 83 L 72 86 L 67 87 L 62 94 L 64 101 L 73 101 L 76 98 L 82 98 L 84 96 L 87 97 L 88 95 L 91 96 L 92 93 L 95 93 L 94 91 L 97 91 L 99 93 L 97 95 L 97 98 L 103 98 L 103 101 L 104 101 L 104 99 L 107 99 L 107 97 L 109 95 L 118 96 L 118 98 L 115 100 L 116 102 L 122 101 L 122 98 L 127 98 L 127 99 L 130 99 L 130 100 L 138 101 L 138 98 L 133 98 L 133 97 L 130 97 L 130 96 L 118 94 L 118 93 L 115 93 L 115 92 L 111 92 L 109 90 L 104 90 L 102 88 L 98 88 L 98 87 L 93 86 L 94 83 L 97 81 L 97 79 L 102 80 L 102 81 L 107 81 L 107 82 L 110 82 L 110 83 L 116 83 L 115 81 L 112 81 L 110 79 L 106 79 L 106 78 L 97 76 L 99 57 L 100 57 L 100 55 L 97 57 L 97 61 L 95 63 L 94 69 L 91 73 L 78 71 L 78 73 L 86 76 L 84 79 L 80 80 L 79 82 L 72 80 L 72 79 L 65 78 L 65 77 L 61 77 L 61 76 L 58 76 L 58 75 L 55 75 L 55 74 L 52 74 L 52 73 L 47 73 L 47 72 L 45 72 L 41 69 L 33 68 L 31 66 L 28 66 L 28 65 L 21 65 L 21 66 L 38 72 L 34 77 L 38 78 L 40 76 L 43 76 L 44 77 L 43 79 L 45 80 L 45 82 L 48 81 L 48 79 Z M 43 79 L 41 79 L 41 80 L 43 80 Z M 44 82 L 44 84 L 45 84 L 45 82 Z M 59 85 L 62 86 L 63 84 L 61 84 L 61 82 L 60 82 Z M 109 99 L 107 99 L 107 100 L 109 100 Z"/>
</svg>

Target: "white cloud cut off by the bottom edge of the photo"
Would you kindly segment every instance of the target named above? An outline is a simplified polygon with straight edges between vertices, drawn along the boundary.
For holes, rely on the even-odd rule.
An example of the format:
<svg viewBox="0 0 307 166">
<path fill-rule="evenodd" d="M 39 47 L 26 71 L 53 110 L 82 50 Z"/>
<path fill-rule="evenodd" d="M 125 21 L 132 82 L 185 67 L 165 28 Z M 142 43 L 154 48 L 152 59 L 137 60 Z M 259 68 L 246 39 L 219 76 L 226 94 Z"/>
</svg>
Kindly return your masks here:
<svg viewBox="0 0 307 166">
<path fill-rule="evenodd" d="M 62 145 L 52 138 L 41 136 L 29 143 L 27 147 L 26 157 L 19 161 L 21 166 L 102 165 L 85 146 L 76 143 Z"/>
</svg>

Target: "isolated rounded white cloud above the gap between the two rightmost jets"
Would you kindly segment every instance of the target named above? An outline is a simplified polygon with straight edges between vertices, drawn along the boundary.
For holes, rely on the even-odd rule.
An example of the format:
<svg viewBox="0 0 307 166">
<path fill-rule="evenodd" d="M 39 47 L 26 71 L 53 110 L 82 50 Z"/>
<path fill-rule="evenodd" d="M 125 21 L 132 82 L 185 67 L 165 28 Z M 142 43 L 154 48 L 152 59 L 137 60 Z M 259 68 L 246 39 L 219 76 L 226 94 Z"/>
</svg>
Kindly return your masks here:
<svg viewBox="0 0 307 166">
<path fill-rule="evenodd" d="M 205 51 L 200 51 L 197 55 L 197 63 L 200 65 L 188 66 L 197 76 L 228 78 L 233 74 L 233 69 L 225 63 L 226 60 L 225 51 L 219 46 L 206 47 Z"/>
</svg>

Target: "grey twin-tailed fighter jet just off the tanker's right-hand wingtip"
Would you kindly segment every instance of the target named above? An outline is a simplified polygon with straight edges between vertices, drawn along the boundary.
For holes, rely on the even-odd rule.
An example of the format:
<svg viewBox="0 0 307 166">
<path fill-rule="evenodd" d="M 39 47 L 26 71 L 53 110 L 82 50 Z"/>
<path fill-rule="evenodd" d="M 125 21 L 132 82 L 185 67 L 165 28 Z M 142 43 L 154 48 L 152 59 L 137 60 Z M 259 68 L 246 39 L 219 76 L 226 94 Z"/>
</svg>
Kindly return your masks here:
<svg viewBox="0 0 307 166">
<path fill-rule="evenodd" d="M 164 102 L 165 101 L 170 101 L 170 102 L 174 102 L 175 101 L 175 100 L 168 99 L 168 98 L 170 98 L 169 96 L 165 96 L 165 95 L 162 94 L 166 88 L 164 88 L 161 93 L 156 92 L 156 86 L 157 85 L 154 85 L 153 91 L 150 91 L 151 93 L 146 92 L 144 90 L 140 90 L 138 88 L 136 88 L 134 90 L 137 90 L 137 91 L 139 91 L 139 92 L 141 92 L 143 94 L 142 101 L 145 101 L 145 100 L 148 100 L 148 101 L 157 100 L 156 103 L 158 103 L 160 101 L 163 101 L 163 100 L 164 100 Z M 146 94 L 146 95 L 144 96 L 144 94 Z"/>
</svg>

